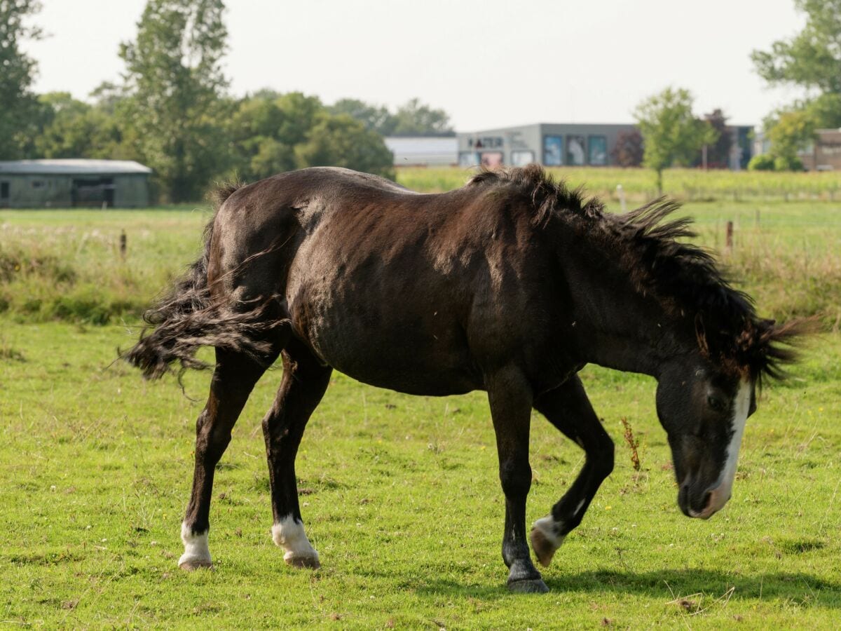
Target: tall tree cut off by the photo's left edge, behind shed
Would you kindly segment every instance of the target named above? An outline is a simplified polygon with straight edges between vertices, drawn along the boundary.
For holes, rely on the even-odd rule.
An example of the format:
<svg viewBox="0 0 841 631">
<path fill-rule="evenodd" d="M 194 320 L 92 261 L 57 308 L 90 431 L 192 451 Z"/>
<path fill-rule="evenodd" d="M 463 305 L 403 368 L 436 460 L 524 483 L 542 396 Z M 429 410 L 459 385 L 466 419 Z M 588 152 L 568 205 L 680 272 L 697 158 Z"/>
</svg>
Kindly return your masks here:
<svg viewBox="0 0 841 631">
<path fill-rule="evenodd" d="M 22 155 L 38 114 L 30 90 L 37 65 L 20 50 L 20 43 L 40 38 L 40 29 L 26 24 L 40 8 L 37 0 L 0 0 L 0 160 Z"/>
</svg>

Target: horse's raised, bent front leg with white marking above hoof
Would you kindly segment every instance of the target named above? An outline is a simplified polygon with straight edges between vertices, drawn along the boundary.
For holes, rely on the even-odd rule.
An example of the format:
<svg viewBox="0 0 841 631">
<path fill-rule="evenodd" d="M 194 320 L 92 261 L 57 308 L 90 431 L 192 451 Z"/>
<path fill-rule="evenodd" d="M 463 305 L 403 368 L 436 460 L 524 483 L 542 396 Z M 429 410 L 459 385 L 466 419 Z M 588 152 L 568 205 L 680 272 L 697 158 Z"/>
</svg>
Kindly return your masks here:
<svg viewBox="0 0 841 631">
<path fill-rule="evenodd" d="M 581 523 L 601 483 L 611 475 L 613 441 L 601 427 L 577 375 L 537 397 L 534 406 L 586 454 L 584 468 L 573 485 L 552 507 L 552 513 L 538 519 L 532 528 L 532 548 L 537 560 L 547 567 L 563 539 Z"/>
</svg>

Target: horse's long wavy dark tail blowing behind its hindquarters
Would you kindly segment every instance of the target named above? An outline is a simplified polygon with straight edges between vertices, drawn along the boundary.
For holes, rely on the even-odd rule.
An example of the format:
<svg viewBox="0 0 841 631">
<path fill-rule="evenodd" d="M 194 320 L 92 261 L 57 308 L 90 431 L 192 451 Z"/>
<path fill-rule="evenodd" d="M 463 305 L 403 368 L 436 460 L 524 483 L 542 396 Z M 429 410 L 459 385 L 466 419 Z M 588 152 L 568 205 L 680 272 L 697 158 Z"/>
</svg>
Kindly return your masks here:
<svg viewBox="0 0 841 631">
<path fill-rule="evenodd" d="M 242 184 L 226 184 L 214 195 L 218 213 L 225 200 Z M 143 315 L 148 326 L 140 340 L 123 358 L 143 371 L 147 379 L 157 379 L 172 363 L 182 369 L 204 369 L 207 364 L 195 356 L 198 347 L 212 346 L 259 355 L 267 344 L 259 333 L 267 328 L 260 319 L 265 305 L 231 305 L 213 300 L 208 285 L 208 262 L 213 244 L 214 219 L 204 228 L 204 252 L 172 289 Z M 150 332 L 151 331 L 151 332 Z"/>
</svg>

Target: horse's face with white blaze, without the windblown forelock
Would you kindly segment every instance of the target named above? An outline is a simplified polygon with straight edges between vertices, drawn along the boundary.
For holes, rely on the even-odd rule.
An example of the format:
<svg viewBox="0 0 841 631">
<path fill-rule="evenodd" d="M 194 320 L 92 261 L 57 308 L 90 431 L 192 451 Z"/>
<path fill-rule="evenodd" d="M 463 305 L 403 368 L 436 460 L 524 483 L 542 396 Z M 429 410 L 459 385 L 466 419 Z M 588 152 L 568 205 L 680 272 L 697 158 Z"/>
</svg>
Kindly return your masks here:
<svg viewBox="0 0 841 631">
<path fill-rule="evenodd" d="M 730 499 L 745 421 L 756 409 L 754 386 L 748 372 L 728 374 L 708 362 L 674 361 L 661 374 L 657 414 L 686 516 L 706 519 Z"/>
</svg>

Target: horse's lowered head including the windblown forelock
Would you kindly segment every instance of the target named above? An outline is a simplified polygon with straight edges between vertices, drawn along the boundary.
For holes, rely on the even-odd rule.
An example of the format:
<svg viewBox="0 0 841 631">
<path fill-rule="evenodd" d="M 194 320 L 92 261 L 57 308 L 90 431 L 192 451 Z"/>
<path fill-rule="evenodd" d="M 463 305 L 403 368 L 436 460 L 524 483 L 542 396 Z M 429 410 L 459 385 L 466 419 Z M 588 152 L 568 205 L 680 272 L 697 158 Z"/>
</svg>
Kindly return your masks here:
<svg viewBox="0 0 841 631">
<path fill-rule="evenodd" d="M 814 326 L 778 325 L 749 313 L 735 326 L 713 321 L 714 335 L 696 316 L 697 345 L 690 343 L 690 351 L 659 372 L 657 414 L 672 448 L 678 506 L 688 517 L 707 519 L 727 504 L 745 422 L 756 411 L 757 385 L 764 377 L 785 377 L 785 364 L 796 359 L 792 344 Z"/>
</svg>

